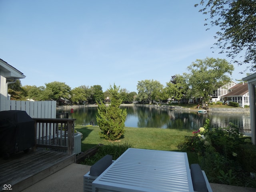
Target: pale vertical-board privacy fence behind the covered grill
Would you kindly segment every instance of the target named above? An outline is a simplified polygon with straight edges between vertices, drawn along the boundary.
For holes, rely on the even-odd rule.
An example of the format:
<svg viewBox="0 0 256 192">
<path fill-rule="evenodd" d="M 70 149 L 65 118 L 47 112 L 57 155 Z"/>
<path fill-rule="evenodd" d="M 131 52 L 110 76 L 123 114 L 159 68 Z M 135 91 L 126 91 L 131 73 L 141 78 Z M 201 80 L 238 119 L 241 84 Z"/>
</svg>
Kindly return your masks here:
<svg viewBox="0 0 256 192">
<path fill-rule="evenodd" d="M 8 100 L 6 110 L 26 111 L 31 118 L 56 118 L 56 101 Z"/>
</svg>

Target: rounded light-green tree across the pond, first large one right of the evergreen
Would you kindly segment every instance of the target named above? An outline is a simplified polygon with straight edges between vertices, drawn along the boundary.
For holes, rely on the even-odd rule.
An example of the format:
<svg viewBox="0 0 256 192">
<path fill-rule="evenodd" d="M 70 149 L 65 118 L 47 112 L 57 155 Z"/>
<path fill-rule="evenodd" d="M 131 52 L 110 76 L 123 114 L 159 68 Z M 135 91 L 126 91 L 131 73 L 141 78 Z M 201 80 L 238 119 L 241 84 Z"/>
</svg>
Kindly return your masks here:
<svg viewBox="0 0 256 192">
<path fill-rule="evenodd" d="M 152 103 L 152 100 L 158 99 L 159 93 L 162 91 L 163 85 L 156 80 L 142 80 L 138 81 L 137 90 L 138 95 L 137 98 L 142 100 L 148 100 L 149 104 Z"/>
</svg>

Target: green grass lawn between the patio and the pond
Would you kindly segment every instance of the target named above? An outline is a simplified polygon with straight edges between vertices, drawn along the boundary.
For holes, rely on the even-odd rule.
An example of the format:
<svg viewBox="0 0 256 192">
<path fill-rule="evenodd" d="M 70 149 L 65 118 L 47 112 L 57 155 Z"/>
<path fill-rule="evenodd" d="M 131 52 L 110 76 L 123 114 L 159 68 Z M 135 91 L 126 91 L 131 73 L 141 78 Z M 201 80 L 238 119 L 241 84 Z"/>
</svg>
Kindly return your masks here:
<svg viewBox="0 0 256 192">
<path fill-rule="evenodd" d="M 100 138 L 98 126 L 76 126 L 75 129 L 83 134 L 82 151 L 89 150 L 98 144 L 132 144 L 134 148 L 180 151 L 178 144 L 185 136 L 192 136 L 192 130 L 162 129 L 162 128 L 131 128 L 126 127 L 124 137 L 118 141 L 108 141 Z M 188 152 L 189 162 L 196 163 L 197 156 Z"/>
</svg>

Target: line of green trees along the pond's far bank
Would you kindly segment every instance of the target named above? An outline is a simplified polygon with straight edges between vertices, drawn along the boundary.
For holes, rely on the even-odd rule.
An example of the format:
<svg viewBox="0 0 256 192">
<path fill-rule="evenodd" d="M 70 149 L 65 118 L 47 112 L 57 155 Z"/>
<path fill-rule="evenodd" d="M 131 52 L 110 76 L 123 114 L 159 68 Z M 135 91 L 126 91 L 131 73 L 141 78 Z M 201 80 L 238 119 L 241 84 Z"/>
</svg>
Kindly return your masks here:
<svg viewBox="0 0 256 192">
<path fill-rule="evenodd" d="M 231 81 L 230 75 L 234 66 L 225 59 L 206 58 L 196 60 L 188 66 L 189 73 L 171 76 L 166 86 L 157 80 L 141 80 L 137 84 L 137 93 L 121 88 L 120 98 L 123 103 L 167 101 L 168 98 L 180 101 L 190 98 L 202 98 L 202 104 L 211 99 L 214 90 Z M 71 89 L 64 82 L 45 83 L 45 86 L 25 85 L 20 80 L 8 87 L 11 100 L 56 100 L 60 104 L 95 104 L 96 102 L 110 102 L 108 90 L 103 92 L 102 86 L 81 85 Z"/>
</svg>

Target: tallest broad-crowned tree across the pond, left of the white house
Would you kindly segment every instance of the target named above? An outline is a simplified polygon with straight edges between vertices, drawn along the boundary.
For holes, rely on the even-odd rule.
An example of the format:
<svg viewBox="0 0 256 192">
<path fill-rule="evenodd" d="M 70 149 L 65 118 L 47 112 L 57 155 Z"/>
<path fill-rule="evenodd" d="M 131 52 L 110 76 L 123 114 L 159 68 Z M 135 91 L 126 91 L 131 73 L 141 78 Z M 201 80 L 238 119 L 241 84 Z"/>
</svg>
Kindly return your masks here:
<svg viewBox="0 0 256 192">
<path fill-rule="evenodd" d="M 188 76 L 189 88 L 191 94 L 196 97 L 202 97 L 202 105 L 210 99 L 210 95 L 220 86 L 230 82 L 230 77 L 234 66 L 225 59 L 206 58 L 196 60 L 188 66 L 190 74 Z"/>
</svg>

